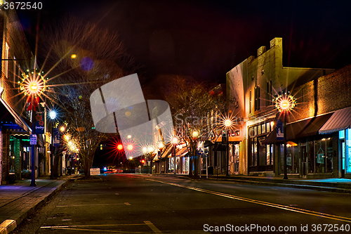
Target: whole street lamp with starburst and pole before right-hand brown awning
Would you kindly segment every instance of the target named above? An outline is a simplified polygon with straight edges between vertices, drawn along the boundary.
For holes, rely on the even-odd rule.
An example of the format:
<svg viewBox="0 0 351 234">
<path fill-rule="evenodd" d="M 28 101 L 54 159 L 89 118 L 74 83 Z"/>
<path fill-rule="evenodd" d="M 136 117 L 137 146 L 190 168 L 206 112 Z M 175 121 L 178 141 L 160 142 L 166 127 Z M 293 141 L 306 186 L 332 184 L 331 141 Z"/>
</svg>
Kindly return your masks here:
<svg viewBox="0 0 351 234">
<path fill-rule="evenodd" d="M 286 114 L 293 110 L 293 108 L 296 106 L 296 98 L 291 96 L 291 94 L 288 93 L 283 93 L 282 95 L 276 96 L 274 103 L 275 103 L 275 108 L 279 110 L 279 112 L 284 113 L 284 177 L 283 179 L 288 179 L 288 167 L 286 164 Z"/>
</svg>

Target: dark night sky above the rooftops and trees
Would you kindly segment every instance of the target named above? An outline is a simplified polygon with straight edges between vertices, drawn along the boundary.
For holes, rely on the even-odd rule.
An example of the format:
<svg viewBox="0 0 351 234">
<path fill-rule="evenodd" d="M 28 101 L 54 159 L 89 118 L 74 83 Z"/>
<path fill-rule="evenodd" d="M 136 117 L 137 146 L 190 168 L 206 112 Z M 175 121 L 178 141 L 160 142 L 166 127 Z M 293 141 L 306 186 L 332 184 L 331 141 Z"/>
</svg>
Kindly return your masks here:
<svg viewBox="0 0 351 234">
<path fill-rule="evenodd" d="M 57 1 L 18 11 L 30 44 L 35 25 L 72 13 L 120 34 L 147 79 L 190 75 L 225 82 L 225 73 L 260 46 L 283 38 L 286 67 L 351 64 L 351 3 L 345 1 Z M 40 44 L 39 44 L 40 46 Z M 34 48 L 32 49 L 34 51 Z"/>
</svg>

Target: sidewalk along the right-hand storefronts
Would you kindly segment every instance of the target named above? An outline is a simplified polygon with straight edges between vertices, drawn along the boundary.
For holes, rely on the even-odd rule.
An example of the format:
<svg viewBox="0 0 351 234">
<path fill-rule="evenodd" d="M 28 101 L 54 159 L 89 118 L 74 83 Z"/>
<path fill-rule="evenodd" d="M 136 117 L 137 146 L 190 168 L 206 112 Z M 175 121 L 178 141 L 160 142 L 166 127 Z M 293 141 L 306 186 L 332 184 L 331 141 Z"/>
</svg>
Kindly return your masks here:
<svg viewBox="0 0 351 234">
<path fill-rule="evenodd" d="M 154 174 L 155 175 L 155 174 Z M 160 175 L 160 174 L 156 174 Z M 162 176 L 177 176 L 188 178 L 187 174 L 161 174 Z M 200 179 L 197 177 L 197 179 Z M 201 174 L 201 179 L 206 179 L 206 174 Z M 351 193 L 351 179 L 348 178 L 289 178 L 268 176 L 242 176 L 242 175 L 213 175 L 208 176 L 211 181 L 232 181 L 237 183 L 250 183 L 263 186 L 280 186 L 288 188 L 304 188 L 334 193 Z"/>
</svg>

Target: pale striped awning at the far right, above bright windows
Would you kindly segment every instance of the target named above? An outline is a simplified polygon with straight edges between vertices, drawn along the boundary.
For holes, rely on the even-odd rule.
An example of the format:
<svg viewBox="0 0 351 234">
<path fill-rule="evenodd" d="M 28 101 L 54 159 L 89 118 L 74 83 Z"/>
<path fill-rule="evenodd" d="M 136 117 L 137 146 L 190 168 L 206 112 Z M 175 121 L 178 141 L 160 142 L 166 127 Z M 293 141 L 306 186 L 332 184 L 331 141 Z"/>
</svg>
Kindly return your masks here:
<svg viewBox="0 0 351 234">
<path fill-rule="evenodd" d="M 351 107 L 337 110 L 319 129 L 319 134 L 331 134 L 351 127 Z"/>
</svg>

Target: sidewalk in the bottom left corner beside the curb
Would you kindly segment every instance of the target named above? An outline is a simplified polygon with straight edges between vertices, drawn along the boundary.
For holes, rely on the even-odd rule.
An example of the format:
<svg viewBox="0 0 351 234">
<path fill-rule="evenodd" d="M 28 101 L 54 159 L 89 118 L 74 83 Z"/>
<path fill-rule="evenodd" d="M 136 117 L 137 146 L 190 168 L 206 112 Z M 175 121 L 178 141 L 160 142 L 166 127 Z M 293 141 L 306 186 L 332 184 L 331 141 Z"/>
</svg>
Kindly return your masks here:
<svg viewBox="0 0 351 234">
<path fill-rule="evenodd" d="M 35 180 L 36 187 L 31 187 L 28 179 L 0 186 L 0 234 L 14 230 L 75 176 L 62 176 L 55 180 L 39 177 Z"/>
</svg>

